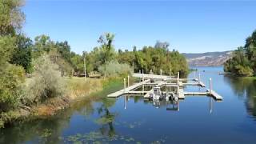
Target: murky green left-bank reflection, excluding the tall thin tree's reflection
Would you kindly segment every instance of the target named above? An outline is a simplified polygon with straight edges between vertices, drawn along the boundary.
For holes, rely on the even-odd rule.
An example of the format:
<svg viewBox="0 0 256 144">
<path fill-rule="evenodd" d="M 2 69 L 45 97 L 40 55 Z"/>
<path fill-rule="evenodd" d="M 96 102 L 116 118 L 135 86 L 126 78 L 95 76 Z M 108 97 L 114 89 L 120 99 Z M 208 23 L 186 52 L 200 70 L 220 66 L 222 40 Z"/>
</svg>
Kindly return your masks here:
<svg viewBox="0 0 256 144">
<path fill-rule="evenodd" d="M 14 126 L 1 130 L 0 143 L 62 143 L 62 131 L 69 126 L 74 112 L 90 116 L 94 114 L 94 102 L 101 100 L 102 97 L 96 96 L 81 98 L 54 116 L 31 119 L 29 122 L 16 122 Z"/>
</svg>

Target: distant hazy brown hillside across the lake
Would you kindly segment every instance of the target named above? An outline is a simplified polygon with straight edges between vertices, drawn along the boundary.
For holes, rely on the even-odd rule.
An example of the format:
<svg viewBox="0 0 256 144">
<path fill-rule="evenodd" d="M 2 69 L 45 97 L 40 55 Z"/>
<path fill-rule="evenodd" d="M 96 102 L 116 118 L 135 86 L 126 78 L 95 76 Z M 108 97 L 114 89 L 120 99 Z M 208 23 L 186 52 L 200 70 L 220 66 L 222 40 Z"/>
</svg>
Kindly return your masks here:
<svg viewBox="0 0 256 144">
<path fill-rule="evenodd" d="M 190 66 L 222 66 L 226 60 L 231 58 L 232 51 L 187 53 L 186 57 Z"/>
</svg>

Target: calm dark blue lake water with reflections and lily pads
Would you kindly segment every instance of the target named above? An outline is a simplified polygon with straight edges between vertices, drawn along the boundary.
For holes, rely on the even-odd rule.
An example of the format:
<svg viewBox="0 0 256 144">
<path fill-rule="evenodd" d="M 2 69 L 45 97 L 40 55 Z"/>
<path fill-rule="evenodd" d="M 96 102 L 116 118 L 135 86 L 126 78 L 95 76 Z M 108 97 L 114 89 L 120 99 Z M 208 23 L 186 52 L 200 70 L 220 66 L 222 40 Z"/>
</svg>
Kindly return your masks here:
<svg viewBox="0 0 256 144">
<path fill-rule="evenodd" d="M 0 143 L 256 143 L 256 81 L 228 78 L 221 71 L 198 68 L 206 87 L 213 79 L 222 102 L 188 96 L 156 107 L 141 97 L 106 98 L 110 91 L 105 91 L 54 117 L 2 129 Z"/>
</svg>

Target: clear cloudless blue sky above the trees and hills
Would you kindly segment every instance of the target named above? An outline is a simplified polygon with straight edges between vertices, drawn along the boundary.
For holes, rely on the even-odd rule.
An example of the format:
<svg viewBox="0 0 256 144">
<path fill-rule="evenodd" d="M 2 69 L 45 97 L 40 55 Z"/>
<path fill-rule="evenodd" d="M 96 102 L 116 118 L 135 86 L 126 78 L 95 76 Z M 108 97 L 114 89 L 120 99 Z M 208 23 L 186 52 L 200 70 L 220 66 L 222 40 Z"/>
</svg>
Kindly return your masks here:
<svg viewBox="0 0 256 144">
<path fill-rule="evenodd" d="M 182 53 L 234 50 L 256 30 L 253 1 L 27 0 L 23 31 L 67 40 L 82 53 L 100 34 L 115 34 L 115 49 L 170 42 Z"/>
</svg>

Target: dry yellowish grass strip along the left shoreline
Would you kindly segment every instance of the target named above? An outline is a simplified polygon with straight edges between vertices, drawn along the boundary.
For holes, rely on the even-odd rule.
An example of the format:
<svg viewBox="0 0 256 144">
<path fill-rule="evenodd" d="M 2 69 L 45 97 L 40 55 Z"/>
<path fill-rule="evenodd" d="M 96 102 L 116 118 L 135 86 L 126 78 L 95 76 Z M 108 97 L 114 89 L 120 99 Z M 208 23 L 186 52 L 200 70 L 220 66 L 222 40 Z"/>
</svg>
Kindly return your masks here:
<svg viewBox="0 0 256 144">
<path fill-rule="evenodd" d="M 0 128 L 11 126 L 13 122 L 27 122 L 38 118 L 48 118 L 57 114 L 59 110 L 66 109 L 72 102 L 79 98 L 98 97 L 103 90 L 111 90 L 111 87 L 120 86 L 122 78 L 65 78 L 67 94 L 61 97 L 49 98 L 45 102 L 31 107 L 21 106 L 16 110 L 10 110 L 1 114 Z M 101 95 L 101 94 L 99 94 Z"/>
</svg>

